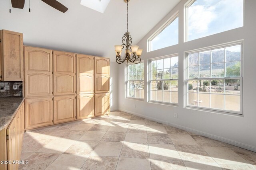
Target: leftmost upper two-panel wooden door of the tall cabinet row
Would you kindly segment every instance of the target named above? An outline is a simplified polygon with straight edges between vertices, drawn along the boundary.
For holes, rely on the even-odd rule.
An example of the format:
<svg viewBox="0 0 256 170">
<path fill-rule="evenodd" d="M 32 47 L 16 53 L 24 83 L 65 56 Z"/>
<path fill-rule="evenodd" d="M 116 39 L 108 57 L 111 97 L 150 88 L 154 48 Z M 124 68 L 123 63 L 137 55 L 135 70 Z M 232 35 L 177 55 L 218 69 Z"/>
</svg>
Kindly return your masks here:
<svg viewBox="0 0 256 170">
<path fill-rule="evenodd" d="M 52 50 L 24 47 L 25 97 L 52 96 Z"/>
</svg>

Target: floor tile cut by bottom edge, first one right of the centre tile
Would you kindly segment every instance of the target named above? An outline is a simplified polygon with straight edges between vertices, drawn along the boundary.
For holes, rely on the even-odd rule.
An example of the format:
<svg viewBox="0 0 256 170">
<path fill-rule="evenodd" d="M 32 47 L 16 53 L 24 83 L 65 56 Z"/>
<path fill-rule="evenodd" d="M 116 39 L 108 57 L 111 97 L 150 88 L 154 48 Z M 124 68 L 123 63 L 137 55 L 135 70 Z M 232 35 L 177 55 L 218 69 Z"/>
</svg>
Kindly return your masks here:
<svg viewBox="0 0 256 170">
<path fill-rule="evenodd" d="M 182 161 L 150 160 L 151 170 L 186 170 Z"/>
</svg>

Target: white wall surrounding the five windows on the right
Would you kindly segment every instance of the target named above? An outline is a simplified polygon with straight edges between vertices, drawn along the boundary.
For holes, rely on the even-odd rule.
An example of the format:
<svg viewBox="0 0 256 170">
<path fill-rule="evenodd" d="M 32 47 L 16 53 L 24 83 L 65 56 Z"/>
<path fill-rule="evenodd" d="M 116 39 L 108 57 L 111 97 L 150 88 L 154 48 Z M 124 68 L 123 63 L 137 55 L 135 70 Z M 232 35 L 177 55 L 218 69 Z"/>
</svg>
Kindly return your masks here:
<svg viewBox="0 0 256 170">
<path fill-rule="evenodd" d="M 147 86 L 145 86 L 144 101 L 126 99 L 124 89 L 125 64 L 120 64 L 118 80 L 119 109 L 256 151 L 256 1 L 244 1 L 244 27 L 184 43 L 184 4 L 187 2 L 187 0 L 182 0 L 138 43 L 138 45 L 144 49 L 144 52 L 142 53 L 142 59 L 144 60 L 145 78 L 147 77 L 146 68 L 148 59 L 174 53 L 179 54 L 179 106 L 169 106 L 147 102 Z M 179 44 L 146 53 L 148 37 L 150 37 L 150 35 L 152 35 L 161 25 L 164 24 L 166 20 L 168 20 L 177 11 L 179 11 Z M 227 115 L 222 113 L 214 113 L 211 111 L 202 111 L 199 109 L 184 108 L 184 51 L 210 47 L 213 45 L 220 45 L 222 43 L 228 43 L 242 39 L 244 40 L 244 75 L 242 89 L 243 116 Z M 134 108 L 134 104 L 136 104 L 136 108 Z M 174 118 L 174 113 L 178 113 L 178 118 Z"/>
</svg>

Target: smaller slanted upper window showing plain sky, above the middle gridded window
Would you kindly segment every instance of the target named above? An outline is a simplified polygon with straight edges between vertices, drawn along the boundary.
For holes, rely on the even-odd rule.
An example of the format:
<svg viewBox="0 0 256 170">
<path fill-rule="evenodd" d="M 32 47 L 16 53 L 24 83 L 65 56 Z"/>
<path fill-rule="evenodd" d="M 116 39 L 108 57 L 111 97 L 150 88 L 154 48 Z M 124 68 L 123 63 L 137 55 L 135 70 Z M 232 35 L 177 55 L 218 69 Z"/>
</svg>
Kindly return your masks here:
<svg viewBox="0 0 256 170">
<path fill-rule="evenodd" d="M 178 14 L 176 14 L 148 39 L 148 51 L 154 51 L 178 44 L 178 23 L 179 18 Z"/>
</svg>

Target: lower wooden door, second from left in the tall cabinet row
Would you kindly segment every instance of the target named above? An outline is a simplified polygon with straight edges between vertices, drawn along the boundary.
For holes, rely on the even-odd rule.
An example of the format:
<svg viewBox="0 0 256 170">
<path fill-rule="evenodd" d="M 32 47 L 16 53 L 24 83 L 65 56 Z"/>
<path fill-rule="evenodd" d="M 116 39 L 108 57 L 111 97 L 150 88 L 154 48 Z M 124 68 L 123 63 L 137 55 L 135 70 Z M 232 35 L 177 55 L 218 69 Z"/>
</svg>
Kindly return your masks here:
<svg viewBox="0 0 256 170">
<path fill-rule="evenodd" d="M 72 121 L 76 119 L 75 96 L 54 97 L 54 123 Z"/>
</svg>

